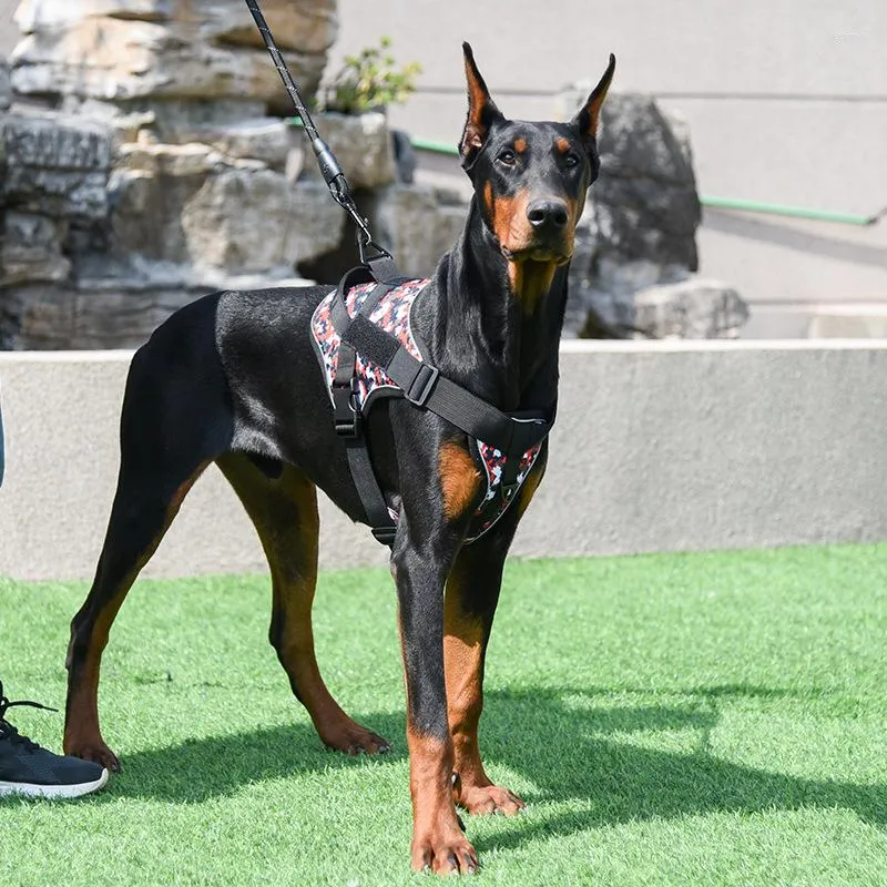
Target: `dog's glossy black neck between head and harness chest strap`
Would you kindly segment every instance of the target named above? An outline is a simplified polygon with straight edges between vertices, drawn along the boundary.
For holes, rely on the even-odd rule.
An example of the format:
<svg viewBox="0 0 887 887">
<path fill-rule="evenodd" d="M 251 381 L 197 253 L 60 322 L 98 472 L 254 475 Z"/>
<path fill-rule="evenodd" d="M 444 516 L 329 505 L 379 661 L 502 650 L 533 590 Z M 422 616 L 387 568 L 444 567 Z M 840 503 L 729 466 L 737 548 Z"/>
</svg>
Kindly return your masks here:
<svg viewBox="0 0 887 887">
<path fill-rule="evenodd" d="M 552 409 L 567 269 L 506 259 L 472 198 L 465 228 L 435 275 L 437 308 L 426 336 L 440 369 L 486 389 L 478 394 L 500 409 Z"/>
</svg>

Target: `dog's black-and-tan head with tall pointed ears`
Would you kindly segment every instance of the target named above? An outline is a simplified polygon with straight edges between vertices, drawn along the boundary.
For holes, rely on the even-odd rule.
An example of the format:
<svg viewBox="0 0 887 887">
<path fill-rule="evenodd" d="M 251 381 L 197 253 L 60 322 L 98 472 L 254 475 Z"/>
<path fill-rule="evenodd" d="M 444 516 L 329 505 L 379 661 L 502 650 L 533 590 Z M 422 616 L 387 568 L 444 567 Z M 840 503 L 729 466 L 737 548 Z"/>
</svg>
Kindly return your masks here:
<svg viewBox="0 0 887 887">
<path fill-rule="evenodd" d="M 471 47 L 462 44 L 468 119 L 459 144 L 483 221 L 509 263 L 562 265 L 585 192 L 598 177 L 598 123 L 615 57 L 569 123 L 508 120 L 490 98 Z"/>
</svg>

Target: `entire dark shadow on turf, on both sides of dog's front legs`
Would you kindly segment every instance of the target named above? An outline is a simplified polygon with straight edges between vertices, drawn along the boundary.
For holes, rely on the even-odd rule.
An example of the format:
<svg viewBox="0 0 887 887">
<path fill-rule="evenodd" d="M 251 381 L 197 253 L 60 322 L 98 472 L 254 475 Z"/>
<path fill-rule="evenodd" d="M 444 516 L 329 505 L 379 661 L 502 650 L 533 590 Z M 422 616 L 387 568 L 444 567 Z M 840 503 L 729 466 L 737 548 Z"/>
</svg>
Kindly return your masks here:
<svg viewBox="0 0 887 887">
<path fill-rule="evenodd" d="M 715 812 L 840 807 L 867 823 L 887 826 L 885 785 L 797 778 L 710 753 L 708 736 L 725 700 L 810 699 L 815 692 L 724 685 L 667 694 L 639 691 L 646 699 L 662 696 L 662 704 L 652 705 L 604 706 L 590 699 L 610 692 L 600 687 L 488 692 L 481 741 L 493 774 L 497 765 L 524 774 L 538 786 L 526 798 L 531 805 L 578 799 L 588 809 L 497 819 L 497 833 L 481 838 L 479 850 L 520 846 L 539 834 Z M 377 761 L 384 765 L 404 759 L 402 713 L 358 720 L 394 741 L 394 751 Z M 694 732 L 697 741 L 691 751 L 655 751 L 619 738 L 619 734 L 676 730 Z M 366 766 L 366 759 L 324 748 L 308 724 L 245 730 L 131 754 L 123 759 L 123 773 L 96 802 L 126 796 L 197 803 L 231 795 L 253 782 L 354 766 Z M 404 792 L 406 803 L 406 784 Z"/>
</svg>

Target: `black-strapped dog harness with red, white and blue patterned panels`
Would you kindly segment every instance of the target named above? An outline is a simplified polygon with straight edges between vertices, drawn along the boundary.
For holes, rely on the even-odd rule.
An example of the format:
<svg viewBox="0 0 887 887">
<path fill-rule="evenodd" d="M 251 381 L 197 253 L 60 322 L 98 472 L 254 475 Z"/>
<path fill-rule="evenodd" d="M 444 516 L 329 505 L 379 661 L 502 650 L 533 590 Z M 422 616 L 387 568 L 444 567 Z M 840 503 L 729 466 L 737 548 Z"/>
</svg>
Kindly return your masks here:
<svg viewBox="0 0 887 887">
<path fill-rule="evenodd" d="M 333 402 L 336 432 L 346 439 L 348 465 L 373 528 L 394 543 L 398 512 L 385 502 L 369 460 L 361 420 L 377 399 L 406 397 L 466 431 L 487 492 L 477 507 L 467 542 L 502 517 L 539 458 L 551 422 L 541 416 L 507 415 L 456 385 L 427 360 L 412 328 L 411 310 L 428 279 L 367 281 L 349 272 L 312 317 L 310 333 Z"/>
</svg>

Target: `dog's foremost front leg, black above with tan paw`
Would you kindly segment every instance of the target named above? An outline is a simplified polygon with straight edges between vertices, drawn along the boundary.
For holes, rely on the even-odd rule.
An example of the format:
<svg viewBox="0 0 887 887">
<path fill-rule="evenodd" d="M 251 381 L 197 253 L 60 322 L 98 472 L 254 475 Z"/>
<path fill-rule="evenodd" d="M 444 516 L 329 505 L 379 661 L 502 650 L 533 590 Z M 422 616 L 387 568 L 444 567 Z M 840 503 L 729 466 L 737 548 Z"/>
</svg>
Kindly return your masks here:
<svg viewBox="0 0 887 887">
<path fill-rule="evenodd" d="M 458 550 L 450 528 L 415 539 L 401 516 L 391 557 L 407 683 L 411 863 L 438 875 L 478 868 L 452 797 L 453 750 L 443 676 L 443 585 Z"/>
</svg>

